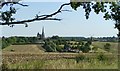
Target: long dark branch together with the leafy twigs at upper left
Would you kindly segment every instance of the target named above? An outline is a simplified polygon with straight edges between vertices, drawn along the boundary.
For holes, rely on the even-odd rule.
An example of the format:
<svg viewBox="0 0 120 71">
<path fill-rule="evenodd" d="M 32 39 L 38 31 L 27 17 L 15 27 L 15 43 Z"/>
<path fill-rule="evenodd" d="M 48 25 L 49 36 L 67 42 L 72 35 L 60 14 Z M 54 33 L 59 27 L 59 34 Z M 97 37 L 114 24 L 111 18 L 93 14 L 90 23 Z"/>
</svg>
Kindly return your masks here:
<svg viewBox="0 0 120 71">
<path fill-rule="evenodd" d="M 48 14 L 48 15 L 38 15 L 36 14 L 34 18 L 32 19 L 24 19 L 24 20 L 19 20 L 17 21 L 16 18 L 13 17 L 14 14 L 16 14 L 16 7 L 14 6 L 15 4 L 26 7 L 28 5 L 24 5 L 22 3 L 19 2 L 20 0 L 3 0 L 3 2 L 0 3 L 0 9 L 3 8 L 3 6 L 7 5 L 9 10 L 6 11 L 0 11 L 0 19 L 2 19 L 2 21 L 0 22 L 0 25 L 8 25 L 10 27 L 13 27 L 14 24 L 24 24 L 25 27 L 28 27 L 29 22 L 33 22 L 33 21 L 41 21 L 41 20 L 57 20 L 60 21 L 61 19 L 58 18 L 53 18 L 54 15 L 57 15 L 58 13 L 61 13 L 63 11 L 69 11 L 69 10 L 62 10 L 62 8 L 66 5 L 70 5 L 70 3 L 65 3 L 62 4 L 60 6 L 60 8 L 53 12 L 52 14 Z"/>
</svg>

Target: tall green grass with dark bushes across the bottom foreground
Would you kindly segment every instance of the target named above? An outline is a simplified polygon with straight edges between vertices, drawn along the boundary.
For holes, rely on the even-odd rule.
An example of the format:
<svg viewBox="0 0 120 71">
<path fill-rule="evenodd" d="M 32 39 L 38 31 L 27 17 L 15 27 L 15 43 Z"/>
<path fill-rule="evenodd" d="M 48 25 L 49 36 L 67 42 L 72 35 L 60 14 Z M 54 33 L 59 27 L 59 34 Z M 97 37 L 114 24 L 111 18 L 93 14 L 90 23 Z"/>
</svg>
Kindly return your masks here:
<svg viewBox="0 0 120 71">
<path fill-rule="evenodd" d="M 98 54 L 95 57 L 78 55 L 76 58 L 50 60 L 26 60 L 21 63 L 10 63 L 9 69 L 117 69 L 117 58 Z"/>
</svg>

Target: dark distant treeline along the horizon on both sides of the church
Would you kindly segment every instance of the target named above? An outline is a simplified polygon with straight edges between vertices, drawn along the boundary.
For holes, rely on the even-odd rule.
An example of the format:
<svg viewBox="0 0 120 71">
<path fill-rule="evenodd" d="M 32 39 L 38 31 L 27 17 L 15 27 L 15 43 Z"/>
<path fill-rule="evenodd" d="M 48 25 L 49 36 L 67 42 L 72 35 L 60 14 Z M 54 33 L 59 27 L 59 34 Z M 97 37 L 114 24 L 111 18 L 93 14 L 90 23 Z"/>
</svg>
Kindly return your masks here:
<svg viewBox="0 0 120 71">
<path fill-rule="evenodd" d="M 104 42 L 117 42 L 116 37 L 100 37 L 100 38 L 85 38 L 85 37 L 59 37 L 59 36 L 52 36 L 49 38 L 46 38 L 44 40 L 54 40 L 54 39 L 60 39 L 65 41 L 87 41 L 91 39 L 92 41 L 104 41 Z M 12 37 L 2 37 L 2 48 L 5 48 L 11 44 L 26 44 L 26 43 L 37 43 L 39 39 L 37 37 L 18 37 L 18 36 L 12 36 Z"/>
</svg>

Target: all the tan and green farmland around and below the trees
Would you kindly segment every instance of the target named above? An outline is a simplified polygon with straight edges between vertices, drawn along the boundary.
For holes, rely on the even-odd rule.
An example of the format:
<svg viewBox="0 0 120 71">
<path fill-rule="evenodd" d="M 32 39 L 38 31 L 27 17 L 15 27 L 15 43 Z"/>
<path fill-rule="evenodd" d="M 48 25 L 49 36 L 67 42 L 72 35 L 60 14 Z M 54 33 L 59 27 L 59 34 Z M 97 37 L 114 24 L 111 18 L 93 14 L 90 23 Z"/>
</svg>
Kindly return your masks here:
<svg viewBox="0 0 120 71">
<path fill-rule="evenodd" d="M 100 49 L 105 42 L 94 42 Z M 114 52 L 117 43 L 112 43 Z M 11 51 L 12 50 L 12 51 Z M 111 53 L 45 52 L 36 44 L 11 45 L 3 49 L 3 63 L 8 69 L 117 69 L 117 55 Z"/>
</svg>

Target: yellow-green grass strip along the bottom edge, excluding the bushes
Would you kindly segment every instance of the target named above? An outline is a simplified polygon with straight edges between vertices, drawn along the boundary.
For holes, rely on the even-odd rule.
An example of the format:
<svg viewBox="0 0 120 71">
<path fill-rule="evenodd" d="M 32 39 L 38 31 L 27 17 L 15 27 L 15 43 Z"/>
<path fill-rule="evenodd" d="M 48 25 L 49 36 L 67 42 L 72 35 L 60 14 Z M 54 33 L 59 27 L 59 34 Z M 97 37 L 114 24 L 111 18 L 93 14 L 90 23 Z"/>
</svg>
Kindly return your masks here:
<svg viewBox="0 0 120 71">
<path fill-rule="evenodd" d="M 110 60 L 109 60 L 110 61 Z M 117 61 L 89 59 L 76 62 L 75 59 L 34 60 L 10 64 L 10 69 L 117 69 Z"/>
</svg>

